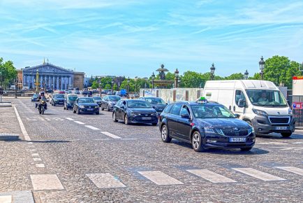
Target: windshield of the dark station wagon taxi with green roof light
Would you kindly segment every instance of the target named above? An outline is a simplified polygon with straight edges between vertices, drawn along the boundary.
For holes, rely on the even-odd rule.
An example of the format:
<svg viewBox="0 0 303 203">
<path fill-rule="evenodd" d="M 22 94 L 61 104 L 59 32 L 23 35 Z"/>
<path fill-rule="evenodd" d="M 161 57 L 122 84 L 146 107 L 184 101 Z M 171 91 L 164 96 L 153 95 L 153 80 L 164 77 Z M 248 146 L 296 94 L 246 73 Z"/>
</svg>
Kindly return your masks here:
<svg viewBox="0 0 303 203">
<path fill-rule="evenodd" d="M 195 118 L 236 118 L 225 106 L 195 105 L 191 109 Z"/>
</svg>

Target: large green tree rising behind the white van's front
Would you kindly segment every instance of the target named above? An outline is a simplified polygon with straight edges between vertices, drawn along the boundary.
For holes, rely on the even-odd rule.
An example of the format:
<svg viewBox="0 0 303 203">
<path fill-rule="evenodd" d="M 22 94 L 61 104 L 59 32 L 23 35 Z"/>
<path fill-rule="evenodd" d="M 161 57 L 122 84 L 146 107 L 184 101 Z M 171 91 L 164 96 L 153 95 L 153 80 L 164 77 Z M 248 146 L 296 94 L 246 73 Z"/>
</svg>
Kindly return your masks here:
<svg viewBox="0 0 303 203">
<path fill-rule="evenodd" d="M 276 85 L 283 83 L 289 89 L 293 87 L 293 76 L 301 76 L 299 63 L 290 61 L 288 57 L 273 56 L 265 60 L 264 79 Z"/>
</svg>

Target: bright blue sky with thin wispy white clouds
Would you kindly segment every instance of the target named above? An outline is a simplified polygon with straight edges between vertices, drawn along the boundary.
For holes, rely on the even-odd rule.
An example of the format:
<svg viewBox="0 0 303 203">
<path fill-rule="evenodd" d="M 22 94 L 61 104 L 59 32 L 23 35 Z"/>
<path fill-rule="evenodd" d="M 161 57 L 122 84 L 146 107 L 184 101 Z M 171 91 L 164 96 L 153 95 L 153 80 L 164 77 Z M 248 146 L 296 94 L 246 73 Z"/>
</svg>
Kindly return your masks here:
<svg viewBox="0 0 303 203">
<path fill-rule="evenodd" d="M 303 62 L 303 1 L 0 0 L 0 57 L 87 76 L 149 77 L 161 64 L 216 75 Z"/>
</svg>

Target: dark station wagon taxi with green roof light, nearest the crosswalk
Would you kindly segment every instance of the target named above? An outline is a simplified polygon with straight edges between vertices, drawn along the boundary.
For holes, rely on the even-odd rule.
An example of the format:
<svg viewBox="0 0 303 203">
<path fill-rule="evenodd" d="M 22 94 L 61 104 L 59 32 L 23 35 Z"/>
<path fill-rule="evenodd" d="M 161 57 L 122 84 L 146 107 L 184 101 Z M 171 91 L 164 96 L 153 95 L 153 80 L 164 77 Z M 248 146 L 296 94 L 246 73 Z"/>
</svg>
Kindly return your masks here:
<svg viewBox="0 0 303 203">
<path fill-rule="evenodd" d="M 253 148 L 253 127 L 237 119 L 221 104 L 176 102 L 169 104 L 159 117 L 161 139 L 188 142 L 195 151 L 207 148 Z"/>
</svg>

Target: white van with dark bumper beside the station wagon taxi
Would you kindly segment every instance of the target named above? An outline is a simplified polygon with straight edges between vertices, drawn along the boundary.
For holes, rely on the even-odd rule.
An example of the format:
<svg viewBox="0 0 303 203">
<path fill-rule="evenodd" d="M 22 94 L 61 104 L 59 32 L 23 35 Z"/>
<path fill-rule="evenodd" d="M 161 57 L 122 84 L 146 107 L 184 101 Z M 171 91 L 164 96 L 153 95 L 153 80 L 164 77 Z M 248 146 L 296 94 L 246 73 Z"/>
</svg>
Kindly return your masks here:
<svg viewBox="0 0 303 203">
<path fill-rule="evenodd" d="M 290 137 L 295 119 L 274 83 L 265 80 L 209 80 L 204 97 L 218 102 L 253 126 L 256 134 L 281 133 Z"/>
</svg>

